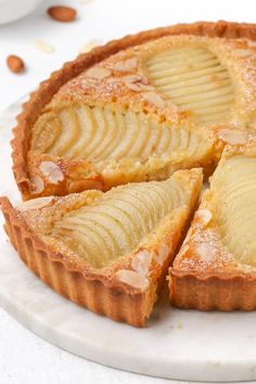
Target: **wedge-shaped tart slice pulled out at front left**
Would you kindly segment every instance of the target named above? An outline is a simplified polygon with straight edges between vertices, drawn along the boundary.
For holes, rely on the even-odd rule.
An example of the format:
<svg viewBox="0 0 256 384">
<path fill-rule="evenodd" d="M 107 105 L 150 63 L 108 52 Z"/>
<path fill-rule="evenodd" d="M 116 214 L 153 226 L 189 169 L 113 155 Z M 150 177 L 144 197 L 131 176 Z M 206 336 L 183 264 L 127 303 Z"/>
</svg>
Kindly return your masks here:
<svg viewBox="0 0 256 384">
<path fill-rule="evenodd" d="M 28 268 L 71 300 L 142 327 L 196 208 L 201 169 L 103 193 L 46 196 L 15 208 L 5 230 Z"/>
</svg>

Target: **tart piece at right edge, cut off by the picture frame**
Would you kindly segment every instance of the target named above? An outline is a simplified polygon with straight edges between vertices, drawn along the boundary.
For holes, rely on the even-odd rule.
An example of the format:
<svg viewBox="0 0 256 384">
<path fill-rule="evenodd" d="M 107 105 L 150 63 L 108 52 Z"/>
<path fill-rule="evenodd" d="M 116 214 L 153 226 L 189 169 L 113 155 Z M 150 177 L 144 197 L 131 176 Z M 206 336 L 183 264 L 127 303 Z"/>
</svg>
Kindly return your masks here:
<svg viewBox="0 0 256 384">
<path fill-rule="evenodd" d="M 169 271 L 171 304 L 256 309 L 256 142 L 226 149 Z"/>
</svg>

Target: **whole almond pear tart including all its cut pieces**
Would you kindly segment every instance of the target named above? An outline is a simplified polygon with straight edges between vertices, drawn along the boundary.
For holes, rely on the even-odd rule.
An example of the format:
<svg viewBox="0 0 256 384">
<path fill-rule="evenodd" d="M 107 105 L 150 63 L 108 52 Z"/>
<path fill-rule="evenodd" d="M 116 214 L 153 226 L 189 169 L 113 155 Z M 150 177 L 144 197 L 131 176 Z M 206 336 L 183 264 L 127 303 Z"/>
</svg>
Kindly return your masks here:
<svg viewBox="0 0 256 384">
<path fill-rule="evenodd" d="M 142 327 L 170 300 L 256 308 L 256 27 L 127 36 L 53 73 L 24 104 L 1 199 L 21 258 L 75 303 Z M 220 161 L 220 162 L 219 162 Z M 219 164 L 218 164 L 219 162 Z"/>
</svg>

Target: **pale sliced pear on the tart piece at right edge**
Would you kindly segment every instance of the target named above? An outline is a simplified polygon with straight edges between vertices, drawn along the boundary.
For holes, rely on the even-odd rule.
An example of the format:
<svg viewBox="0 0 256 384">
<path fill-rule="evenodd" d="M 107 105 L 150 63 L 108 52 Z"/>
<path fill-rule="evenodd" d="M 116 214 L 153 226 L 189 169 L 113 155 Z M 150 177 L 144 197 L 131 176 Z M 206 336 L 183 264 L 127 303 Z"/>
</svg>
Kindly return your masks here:
<svg viewBox="0 0 256 384">
<path fill-rule="evenodd" d="M 255 267 L 256 158 L 229 157 L 217 168 L 212 187 L 225 244 L 238 261 Z"/>
</svg>

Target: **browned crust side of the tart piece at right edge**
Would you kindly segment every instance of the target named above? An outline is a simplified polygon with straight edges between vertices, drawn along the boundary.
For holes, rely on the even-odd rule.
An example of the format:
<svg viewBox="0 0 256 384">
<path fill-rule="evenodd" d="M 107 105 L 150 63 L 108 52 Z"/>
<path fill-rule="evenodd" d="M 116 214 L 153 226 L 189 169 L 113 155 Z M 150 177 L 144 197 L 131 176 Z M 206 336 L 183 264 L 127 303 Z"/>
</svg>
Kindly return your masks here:
<svg viewBox="0 0 256 384">
<path fill-rule="evenodd" d="M 222 273 L 201 277 L 196 272 L 169 271 L 170 304 L 200 310 L 256 309 L 256 274 Z"/>
</svg>

